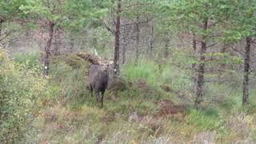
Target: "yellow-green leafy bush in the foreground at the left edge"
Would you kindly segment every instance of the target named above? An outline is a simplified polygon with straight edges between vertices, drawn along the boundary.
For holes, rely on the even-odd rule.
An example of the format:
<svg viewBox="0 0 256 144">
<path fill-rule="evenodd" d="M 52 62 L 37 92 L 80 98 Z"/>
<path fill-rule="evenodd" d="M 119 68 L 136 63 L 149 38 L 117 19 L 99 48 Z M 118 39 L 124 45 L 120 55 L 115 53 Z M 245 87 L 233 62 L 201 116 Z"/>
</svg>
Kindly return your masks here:
<svg viewBox="0 0 256 144">
<path fill-rule="evenodd" d="M 26 65 L 10 61 L 4 50 L 0 64 L 0 142 L 18 142 L 38 110 L 46 81 Z"/>
</svg>

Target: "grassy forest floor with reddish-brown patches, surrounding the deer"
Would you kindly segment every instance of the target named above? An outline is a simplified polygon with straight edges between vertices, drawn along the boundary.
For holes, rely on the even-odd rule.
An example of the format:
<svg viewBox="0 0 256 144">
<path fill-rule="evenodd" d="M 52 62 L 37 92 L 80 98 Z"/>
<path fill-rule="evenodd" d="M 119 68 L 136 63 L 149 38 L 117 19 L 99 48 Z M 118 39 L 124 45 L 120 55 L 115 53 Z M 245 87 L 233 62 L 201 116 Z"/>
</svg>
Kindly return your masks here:
<svg viewBox="0 0 256 144">
<path fill-rule="evenodd" d="M 209 84 L 193 108 L 193 82 L 173 66 L 122 66 L 125 90 L 107 90 L 103 108 L 90 96 L 88 64 L 71 55 L 53 60 L 33 126 L 39 143 L 256 142 L 256 89 L 242 108 L 239 86 Z M 193 88 L 192 88 L 193 89 Z M 28 140 L 28 141 L 31 141 Z"/>
</svg>

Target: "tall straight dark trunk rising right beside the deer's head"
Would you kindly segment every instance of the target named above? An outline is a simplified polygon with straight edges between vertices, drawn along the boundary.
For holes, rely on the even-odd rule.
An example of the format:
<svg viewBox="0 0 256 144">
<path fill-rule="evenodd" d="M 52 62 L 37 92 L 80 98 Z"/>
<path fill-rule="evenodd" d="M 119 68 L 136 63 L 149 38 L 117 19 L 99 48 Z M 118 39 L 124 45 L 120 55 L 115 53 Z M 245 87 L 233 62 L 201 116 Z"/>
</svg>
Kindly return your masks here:
<svg viewBox="0 0 256 144">
<path fill-rule="evenodd" d="M 114 76 L 119 75 L 119 37 L 120 37 L 120 13 L 121 13 L 121 0 L 118 0 L 118 8 L 117 8 L 117 19 L 115 25 L 115 42 L 114 42 Z"/>
</svg>

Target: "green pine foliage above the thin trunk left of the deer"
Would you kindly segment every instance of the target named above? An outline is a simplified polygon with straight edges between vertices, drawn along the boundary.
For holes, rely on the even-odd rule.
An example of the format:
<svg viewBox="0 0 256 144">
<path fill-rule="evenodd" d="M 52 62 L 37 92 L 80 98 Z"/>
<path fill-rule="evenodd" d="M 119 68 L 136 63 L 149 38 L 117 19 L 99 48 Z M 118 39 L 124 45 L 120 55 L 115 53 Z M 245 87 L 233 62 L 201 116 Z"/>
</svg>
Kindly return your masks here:
<svg viewBox="0 0 256 144">
<path fill-rule="evenodd" d="M 65 27 L 66 30 L 81 30 L 90 22 L 97 22 L 106 14 L 105 2 L 91 0 L 26 0 L 19 6 L 31 22 L 41 21 L 54 23 L 54 25 Z M 102 7 L 103 6 L 103 7 Z"/>
</svg>

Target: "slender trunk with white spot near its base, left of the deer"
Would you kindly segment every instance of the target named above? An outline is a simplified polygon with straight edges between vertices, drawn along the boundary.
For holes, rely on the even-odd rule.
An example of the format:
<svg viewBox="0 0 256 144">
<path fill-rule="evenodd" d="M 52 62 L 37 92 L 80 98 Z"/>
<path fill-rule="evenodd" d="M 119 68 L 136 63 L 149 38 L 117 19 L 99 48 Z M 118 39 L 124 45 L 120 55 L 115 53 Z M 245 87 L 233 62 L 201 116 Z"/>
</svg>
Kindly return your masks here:
<svg viewBox="0 0 256 144">
<path fill-rule="evenodd" d="M 49 23 L 49 38 L 45 47 L 45 55 L 44 55 L 44 75 L 47 76 L 49 74 L 49 65 L 50 65 L 50 46 L 51 41 L 54 36 L 54 23 Z"/>
</svg>

